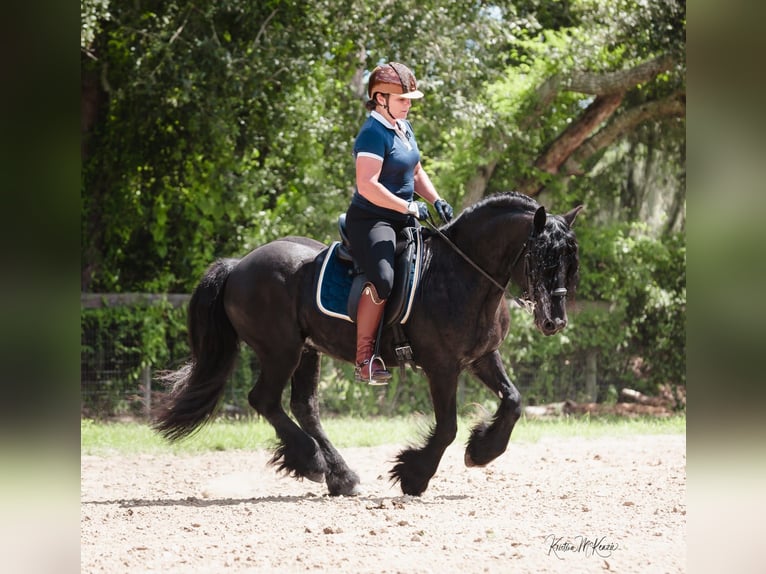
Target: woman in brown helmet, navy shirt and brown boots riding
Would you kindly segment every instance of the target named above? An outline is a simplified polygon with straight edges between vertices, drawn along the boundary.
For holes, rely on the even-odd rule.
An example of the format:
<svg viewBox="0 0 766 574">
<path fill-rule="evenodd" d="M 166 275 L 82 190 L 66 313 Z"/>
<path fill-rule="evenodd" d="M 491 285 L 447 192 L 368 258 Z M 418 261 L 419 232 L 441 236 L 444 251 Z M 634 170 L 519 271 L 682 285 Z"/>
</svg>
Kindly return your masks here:
<svg viewBox="0 0 766 574">
<path fill-rule="evenodd" d="M 428 206 L 414 201 L 414 194 L 432 203 L 445 223 L 453 210 L 420 165 L 407 121 L 412 100 L 423 97 L 414 74 L 396 62 L 378 66 L 370 74 L 367 94 L 370 115 L 354 144 L 356 189 L 346 212 L 346 230 L 354 258 L 369 279 L 357 308 L 355 376 L 372 384 L 391 378 L 382 362 L 372 359 L 394 283 L 396 237 L 402 228 L 417 226 L 416 219 L 428 217 Z"/>
</svg>

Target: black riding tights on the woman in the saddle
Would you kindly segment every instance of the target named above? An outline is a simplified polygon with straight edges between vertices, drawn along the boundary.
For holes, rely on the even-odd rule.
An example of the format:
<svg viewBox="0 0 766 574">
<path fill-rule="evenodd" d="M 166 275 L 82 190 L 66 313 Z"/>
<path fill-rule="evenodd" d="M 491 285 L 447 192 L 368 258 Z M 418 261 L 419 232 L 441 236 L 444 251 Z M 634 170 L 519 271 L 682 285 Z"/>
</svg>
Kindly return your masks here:
<svg viewBox="0 0 766 574">
<path fill-rule="evenodd" d="M 355 205 L 346 212 L 346 232 L 354 260 L 381 299 L 388 299 L 394 286 L 396 238 L 402 229 L 413 225 L 417 223 L 412 217 L 392 221 Z"/>
</svg>

